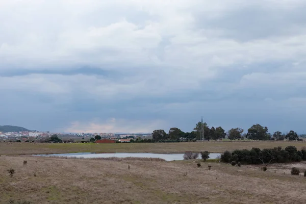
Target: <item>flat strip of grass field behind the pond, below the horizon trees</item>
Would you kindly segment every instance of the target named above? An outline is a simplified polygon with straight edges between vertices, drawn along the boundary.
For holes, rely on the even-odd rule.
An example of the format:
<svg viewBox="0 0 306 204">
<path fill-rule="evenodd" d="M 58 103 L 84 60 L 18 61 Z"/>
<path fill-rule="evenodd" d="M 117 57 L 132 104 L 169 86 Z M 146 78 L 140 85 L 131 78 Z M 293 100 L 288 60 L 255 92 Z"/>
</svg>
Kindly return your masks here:
<svg viewBox="0 0 306 204">
<path fill-rule="evenodd" d="M 185 151 L 210 151 L 219 153 L 225 150 L 251 149 L 252 147 L 271 148 L 289 145 L 300 149 L 306 142 L 268 142 L 268 141 L 243 141 L 243 142 L 182 142 L 182 143 L 19 143 L 1 142 L 0 155 L 31 155 L 31 154 L 56 154 L 69 152 L 152 152 L 152 153 L 183 153 Z"/>
</svg>

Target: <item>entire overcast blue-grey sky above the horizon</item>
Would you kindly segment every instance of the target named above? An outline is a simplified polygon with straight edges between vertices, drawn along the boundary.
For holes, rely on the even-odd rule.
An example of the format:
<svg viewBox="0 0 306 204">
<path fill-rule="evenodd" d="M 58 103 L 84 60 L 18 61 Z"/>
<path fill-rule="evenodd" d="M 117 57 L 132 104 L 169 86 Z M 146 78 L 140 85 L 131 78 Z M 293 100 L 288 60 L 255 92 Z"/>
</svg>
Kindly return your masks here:
<svg viewBox="0 0 306 204">
<path fill-rule="evenodd" d="M 0 0 L 0 125 L 306 131 L 304 0 Z"/>
</svg>

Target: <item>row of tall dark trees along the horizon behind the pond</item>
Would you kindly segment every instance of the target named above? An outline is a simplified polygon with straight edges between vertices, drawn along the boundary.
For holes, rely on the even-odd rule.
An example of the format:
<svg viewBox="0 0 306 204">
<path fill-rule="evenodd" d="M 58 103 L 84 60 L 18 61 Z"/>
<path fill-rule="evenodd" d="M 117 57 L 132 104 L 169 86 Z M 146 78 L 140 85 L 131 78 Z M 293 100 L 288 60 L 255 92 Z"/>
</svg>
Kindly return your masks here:
<svg viewBox="0 0 306 204">
<path fill-rule="evenodd" d="M 201 138 L 201 132 L 203 132 L 203 138 Z M 299 140 L 296 132 L 290 131 L 284 134 L 280 131 L 274 132 L 272 135 L 268 133 L 268 127 L 262 126 L 260 124 L 253 124 L 247 133 L 240 127 L 232 128 L 225 132 L 225 130 L 219 127 L 209 127 L 206 122 L 198 122 L 194 127 L 192 132 L 183 132 L 177 127 L 171 127 L 169 132 L 166 133 L 164 130 L 155 130 L 152 133 L 152 139 L 155 142 L 165 141 L 165 140 L 180 140 L 184 138 L 185 140 L 220 140 L 227 138 L 230 140 Z"/>
</svg>

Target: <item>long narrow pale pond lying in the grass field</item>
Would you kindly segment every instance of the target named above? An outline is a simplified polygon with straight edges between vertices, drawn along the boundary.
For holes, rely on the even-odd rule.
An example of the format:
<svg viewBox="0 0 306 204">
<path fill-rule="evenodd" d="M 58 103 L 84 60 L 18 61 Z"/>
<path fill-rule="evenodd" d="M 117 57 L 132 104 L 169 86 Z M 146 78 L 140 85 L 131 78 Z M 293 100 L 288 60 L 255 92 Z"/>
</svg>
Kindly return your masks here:
<svg viewBox="0 0 306 204">
<path fill-rule="evenodd" d="M 220 153 L 211 153 L 210 159 L 217 159 Z M 41 157 L 75 157 L 75 158 L 108 158 L 108 157 L 145 157 L 145 158 L 161 158 L 166 161 L 184 160 L 184 154 L 154 154 L 154 153 L 103 153 L 95 154 L 90 152 L 69 153 L 69 154 L 53 154 L 53 155 L 35 155 Z M 198 159 L 201 159 L 200 155 Z"/>
</svg>

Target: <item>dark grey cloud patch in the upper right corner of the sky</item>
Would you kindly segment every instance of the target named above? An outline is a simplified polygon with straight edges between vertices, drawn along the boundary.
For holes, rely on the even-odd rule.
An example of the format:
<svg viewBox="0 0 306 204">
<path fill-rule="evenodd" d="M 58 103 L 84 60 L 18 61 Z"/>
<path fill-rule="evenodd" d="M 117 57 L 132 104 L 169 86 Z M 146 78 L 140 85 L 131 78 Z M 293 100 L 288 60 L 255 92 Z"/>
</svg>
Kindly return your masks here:
<svg viewBox="0 0 306 204">
<path fill-rule="evenodd" d="M 305 3 L 292 9 L 262 2 L 237 7 L 213 19 L 200 14 L 196 18 L 202 29 L 221 29 L 222 36 L 245 42 L 304 33 L 305 9 Z"/>
</svg>

